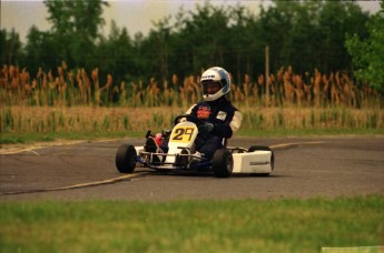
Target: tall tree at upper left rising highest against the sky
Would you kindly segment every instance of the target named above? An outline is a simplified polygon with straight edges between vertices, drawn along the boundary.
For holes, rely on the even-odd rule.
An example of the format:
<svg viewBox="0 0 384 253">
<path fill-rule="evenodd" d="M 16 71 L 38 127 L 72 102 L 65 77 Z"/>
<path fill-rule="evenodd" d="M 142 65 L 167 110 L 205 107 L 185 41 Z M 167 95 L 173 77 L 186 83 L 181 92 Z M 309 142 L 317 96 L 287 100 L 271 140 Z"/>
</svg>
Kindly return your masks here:
<svg viewBox="0 0 384 253">
<path fill-rule="evenodd" d="M 105 24 L 101 17 L 101 0 L 46 0 L 48 21 L 52 23 L 52 42 L 56 57 L 69 64 L 90 68 L 95 64 L 95 43 L 99 28 Z"/>
</svg>

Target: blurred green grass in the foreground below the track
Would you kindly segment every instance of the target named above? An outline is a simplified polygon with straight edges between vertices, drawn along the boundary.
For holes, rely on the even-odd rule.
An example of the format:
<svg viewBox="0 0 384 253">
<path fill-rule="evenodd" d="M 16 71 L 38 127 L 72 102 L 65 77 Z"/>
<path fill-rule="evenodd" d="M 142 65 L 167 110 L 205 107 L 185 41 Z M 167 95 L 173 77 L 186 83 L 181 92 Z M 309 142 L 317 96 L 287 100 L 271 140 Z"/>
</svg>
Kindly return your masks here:
<svg viewBox="0 0 384 253">
<path fill-rule="evenodd" d="M 384 245 L 384 196 L 1 203 L 1 252 L 319 252 Z"/>
</svg>

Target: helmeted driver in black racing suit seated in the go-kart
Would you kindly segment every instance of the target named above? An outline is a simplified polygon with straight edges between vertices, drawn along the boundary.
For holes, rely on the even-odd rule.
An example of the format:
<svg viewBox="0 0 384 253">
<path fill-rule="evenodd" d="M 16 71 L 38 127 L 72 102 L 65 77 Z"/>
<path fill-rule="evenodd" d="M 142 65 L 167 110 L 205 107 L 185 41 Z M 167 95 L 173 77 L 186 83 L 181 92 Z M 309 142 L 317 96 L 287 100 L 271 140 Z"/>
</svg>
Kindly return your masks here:
<svg viewBox="0 0 384 253">
<path fill-rule="evenodd" d="M 189 108 L 186 114 L 193 114 L 203 122 L 198 126 L 195 155 L 210 160 L 216 150 L 224 148 L 225 140 L 240 128 L 242 113 L 226 98 L 230 91 L 230 77 L 225 69 L 213 67 L 206 70 L 200 84 L 203 101 Z M 154 146 L 151 143 L 154 139 L 148 139 L 146 146 Z"/>
</svg>

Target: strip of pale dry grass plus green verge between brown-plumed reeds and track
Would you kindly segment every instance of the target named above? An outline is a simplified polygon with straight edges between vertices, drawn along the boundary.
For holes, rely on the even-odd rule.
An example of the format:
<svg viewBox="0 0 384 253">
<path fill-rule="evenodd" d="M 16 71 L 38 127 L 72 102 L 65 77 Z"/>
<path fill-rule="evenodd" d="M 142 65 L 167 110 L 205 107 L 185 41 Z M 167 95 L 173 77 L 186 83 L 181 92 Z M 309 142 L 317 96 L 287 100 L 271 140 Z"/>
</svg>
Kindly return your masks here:
<svg viewBox="0 0 384 253">
<path fill-rule="evenodd" d="M 4 107 L 0 144 L 144 136 L 170 129 L 180 108 Z M 237 134 L 254 136 L 384 134 L 384 110 L 315 108 L 242 108 Z"/>
</svg>

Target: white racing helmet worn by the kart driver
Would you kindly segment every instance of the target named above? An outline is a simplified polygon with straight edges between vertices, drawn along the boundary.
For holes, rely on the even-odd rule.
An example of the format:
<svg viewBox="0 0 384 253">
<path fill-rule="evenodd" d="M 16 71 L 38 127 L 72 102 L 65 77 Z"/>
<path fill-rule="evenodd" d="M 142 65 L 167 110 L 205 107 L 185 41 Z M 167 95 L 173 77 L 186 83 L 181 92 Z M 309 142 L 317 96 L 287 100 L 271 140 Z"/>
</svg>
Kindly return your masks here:
<svg viewBox="0 0 384 253">
<path fill-rule="evenodd" d="M 215 101 L 230 91 L 230 77 L 228 72 L 220 67 L 213 67 L 206 70 L 201 75 L 203 98 L 205 101 Z M 215 94 L 208 94 L 205 84 L 219 83 L 221 89 Z"/>
</svg>

